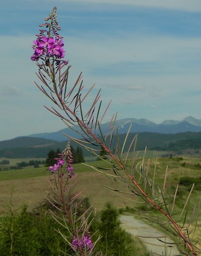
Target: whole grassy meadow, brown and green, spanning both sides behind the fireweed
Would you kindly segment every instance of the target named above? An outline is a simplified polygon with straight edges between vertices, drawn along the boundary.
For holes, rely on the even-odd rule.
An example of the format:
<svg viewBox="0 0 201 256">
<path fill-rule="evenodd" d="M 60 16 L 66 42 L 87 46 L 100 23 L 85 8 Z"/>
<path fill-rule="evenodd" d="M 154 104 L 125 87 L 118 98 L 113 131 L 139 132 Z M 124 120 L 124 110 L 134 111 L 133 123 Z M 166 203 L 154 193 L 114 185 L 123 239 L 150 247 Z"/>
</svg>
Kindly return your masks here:
<svg viewBox="0 0 201 256">
<path fill-rule="evenodd" d="M 164 153 L 164 152 L 162 152 Z M 139 176 L 139 168 L 142 162 L 142 153 L 140 153 L 139 158 L 136 161 L 135 175 Z M 156 152 L 149 152 L 146 155 L 145 169 L 147 166 L 148 158 L 150 156 L 156 156 Z M 158 155 L 157 155 L 158 156 Z M 10 159 L 9 159 L 10 160 Z M 15 162 L 28 161 L 26 159 L 15 159 L 10 160 L 10 164 L 15 164 Z M 30 160 L 30 159 L 29 159 Z M 156 158 L 150 158 L 150 170 L 149 177 L 153 178 L 153 171 Z M 87 162 L 89 165 L 94 165 L 97 167 L 110 168 L 111 165 L 105 161 L 93 161 Z M 201 177 L 201 168 L 199 167 L 200 158 L 195 156 L 176 156 L 167 158 L 157 158 L 157 168 L 156 168 L 156 184 L 162 189 L 164 176 L 166 171 L 166 166 L 168 165 L 169 178 L 167 178 L 165 191 L 166 193 L 171 192 L 171 202 L 173 201 L 173 196 L 175 192 L 176 185 L 179 183 L 181 177 Z M 99 173 L 89 166 L 83 164 L 74 164 L 74 170 L 76 173 L 75 182 L 79 181 L 77 185 L 77 190 L 84 189 L 82 197 L 89 197 L 90 202 L 96 211 L 103 209 L 106 201 L 111 201 L 114 206 L 118 208 L 125 208 L 125 204 L 131 205 L 134 208 L 141 209 L 142 204 L 137 203 L 139 197 L 131 195 L 126 195 L 127 199 L 122 198 L 125 194 L 120 193 L 120 197 L 113 193 L 110 189 L 105 186 L 119 189 L 124 192 L 130 192 L 127 185 L 124 183 L 119 183 L 113 179 L 108 178 L 106 175 Z M 107 171 L 108 172 L 108 171 Z M 0 187 L 1 187 L 1 203 L 0 203 L 0 215 L 6 215 L 6 206 L 9 206 L 11 188 L 13 187 L 13 206 L 15 209 L 20 208 L 21 204 L 27 204 L 28 210 L 31 211 L 33 207 L 40 204 L 47 194 L 48 188 L 48 175 L 49 171 L 47 167 L 40 168 L 24 168 L 22 170 L 10 170 L 0 172 Z M 170 190 L 169 185 L 170 183 Z M 155 185 L 155 188 L 157 186 Z M 158 189 L 158 188 L 157 188 Z M 175 210 L 181 213 L 185 200 L 188 197 L 189 188 L 184 186 L 179 186 Z M 187 214 L 187 219 L 190 220 L 191 213 L 193 211 L 194 205 L 198 205 L 200 198 L 200 191 L 194 190 L 191 197 L 191 202 L 189 205 L 189 210 Z M 132 202 L 129 199 L 134 199 L 136 202 Z M 144 204 L 143 204 L 144 205 Z M 153 215 L 154 216 L 154 215 Z M 195 222 L 191 224 L 192 230 L 195 228 Z M 201 237 L 201 219 L 199 219 L 195 239 Z M 199 243 L 198 243 L 199 244 Z"/>
</svg>

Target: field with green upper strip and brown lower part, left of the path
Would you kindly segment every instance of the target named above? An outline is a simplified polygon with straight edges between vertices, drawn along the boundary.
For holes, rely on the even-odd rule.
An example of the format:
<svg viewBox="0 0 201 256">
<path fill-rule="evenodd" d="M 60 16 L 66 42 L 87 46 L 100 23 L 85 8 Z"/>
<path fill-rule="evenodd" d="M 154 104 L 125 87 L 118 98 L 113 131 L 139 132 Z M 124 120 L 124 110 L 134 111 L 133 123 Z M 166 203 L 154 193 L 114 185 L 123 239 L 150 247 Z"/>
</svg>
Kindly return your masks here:
<svg viewBox="0 0 201 256">
<path fill-rule="evenodd" d="M 93 162 L 95 166 L 108 167 L 104 161 Z M 116 207 L 124 207 L 124 201 L 119 200 L 112 191 L 106 187 L 117 187 L 114 180 L 108 179 L 105 175 L 92 170 L 83 164 L 74 164 L 77 177 L 75 181 L 80 180 L 77 190 L 85 189 L 82 196 L 89 197 L 97 211 L 100 211 L 106 201 L 111 201 Z M 36 203 L 40 203 L 46 197 L 48 186 L 48 168 L 29 168 L 23 170 L 12 170 L 0 172 L 0 215 L 6 213 L 4 206 L 8 206 L 10 200 L 11 187 L 14 187 L 13 204 L 15 208 L 19 208 L 21 204 L 28 204 L 31 210 Z M 118 183 L 118 188 L 119 188 Z M 124 184 L 120 185 L 120 189 L 124 188 Z M 128 203 L 128 200 L 127 200 Z"/>
</svg>

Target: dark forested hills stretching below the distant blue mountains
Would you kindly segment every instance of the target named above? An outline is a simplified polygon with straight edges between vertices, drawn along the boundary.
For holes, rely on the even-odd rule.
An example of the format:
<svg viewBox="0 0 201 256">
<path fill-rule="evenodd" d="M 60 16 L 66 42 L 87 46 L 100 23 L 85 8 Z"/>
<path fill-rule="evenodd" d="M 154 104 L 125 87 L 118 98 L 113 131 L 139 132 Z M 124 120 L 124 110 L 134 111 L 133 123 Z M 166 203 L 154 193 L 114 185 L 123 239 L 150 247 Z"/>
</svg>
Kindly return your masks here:
<svg viewBox="0 0 201 256">
<path fill-rule="evenodd" d="M 119 134 L 120 147 L 124 144 L 126 134 Z M 128 135 L 124 151 L 127 151 L 132 141 L 134 133 Z M 109 136 L 110 137 L 110 136 Z M 117 140 L 115 135 L 111 148 L 115 148 Z M 108 142 L 108 141 L 107 141 Z M 108 143 L 109 144 L 109 143 Z M 0 142 L 0 157 L 5 158 L 29 158 L 29 157 L 46 157 L 47 153 L 53 149 L 65 149 L 67 141 L 58 142 L 42 138 L 20 137 L 8 141 Z M 78 145 L 71 142 L 72 147 Z M 187 148 L 201 149 L 201 132 L 186 132 L 177 134 L 159 134 L 143 132 L 138 134 L 136 150 L 144 150 L 147 147 L 150 150 L 169 150 L 181 151 Z M 84 156 L 91 154 L 83 149 Z"/>
</svg>

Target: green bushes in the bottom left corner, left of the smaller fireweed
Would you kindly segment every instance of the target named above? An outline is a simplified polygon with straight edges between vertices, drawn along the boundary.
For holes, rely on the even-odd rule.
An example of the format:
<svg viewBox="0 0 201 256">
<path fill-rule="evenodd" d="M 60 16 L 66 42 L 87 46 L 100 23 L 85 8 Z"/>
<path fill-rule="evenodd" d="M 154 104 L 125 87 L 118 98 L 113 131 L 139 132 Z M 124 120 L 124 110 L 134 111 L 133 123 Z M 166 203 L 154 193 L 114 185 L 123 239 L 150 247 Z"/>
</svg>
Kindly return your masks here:
<svg viewBox="0 0 201 256">
<path fill-rule="evenodd" d="M 28 213 L 27 207 L 21 208 L 19 214 L 0 219 L 0 255 L 47 256 L 65 255 L 70 252 L 69 246 L 55 229 L 66 233 L 51 216 L 41 211 L 39 214 Z"/>
</svg>

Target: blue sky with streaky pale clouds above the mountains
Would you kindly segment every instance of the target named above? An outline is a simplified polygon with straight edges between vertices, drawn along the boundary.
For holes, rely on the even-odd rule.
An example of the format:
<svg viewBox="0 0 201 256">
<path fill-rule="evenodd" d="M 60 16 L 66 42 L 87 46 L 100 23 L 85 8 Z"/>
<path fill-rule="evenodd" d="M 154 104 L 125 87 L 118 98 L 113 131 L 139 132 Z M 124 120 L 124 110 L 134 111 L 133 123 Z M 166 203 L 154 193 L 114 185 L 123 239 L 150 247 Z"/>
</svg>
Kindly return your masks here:
<svg viewBox="0 0 201 256">
<path fill-rule="evenodd" d="M 201 2 L 189 0 L 11 0 L 1 3 L 0 140 L 65 128 L 34 85 L 33 40 L 53 6 L 70 81 L 83 71 L 102 88 L 105 121 L 201 119 Z M 96 91 L 95 90 L 95 91 Z"/>
</svg>

